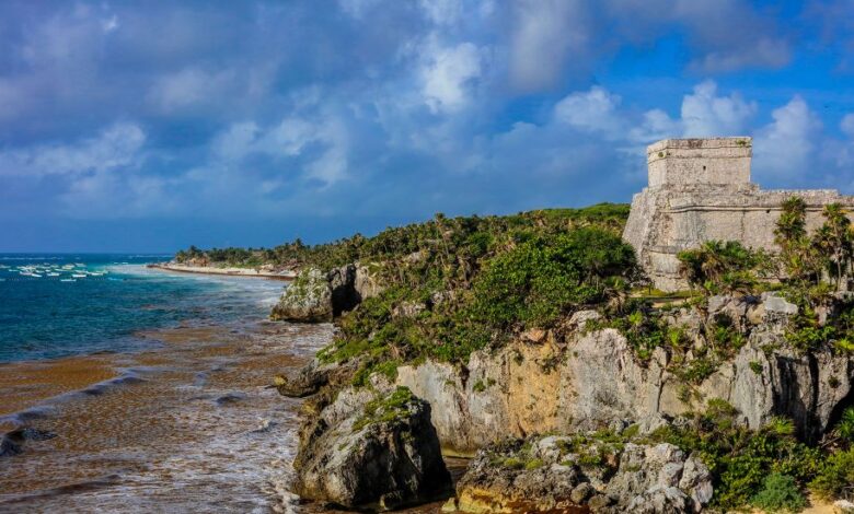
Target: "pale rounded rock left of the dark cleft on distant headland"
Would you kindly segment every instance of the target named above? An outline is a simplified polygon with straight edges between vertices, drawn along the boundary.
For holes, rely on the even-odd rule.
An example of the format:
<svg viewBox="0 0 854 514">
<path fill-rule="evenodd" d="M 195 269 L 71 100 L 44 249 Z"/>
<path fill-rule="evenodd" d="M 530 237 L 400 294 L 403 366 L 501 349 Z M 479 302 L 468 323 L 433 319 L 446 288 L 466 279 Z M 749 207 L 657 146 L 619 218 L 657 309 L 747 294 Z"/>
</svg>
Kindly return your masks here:
<svg viewBox="0 0 854 514">
<path fill-rule="evenodd" d="M 273 307 L 270 319 L 321 323 L 333 318 L 333 289 L 321 270 L 301 271 Z"/>
</svg>

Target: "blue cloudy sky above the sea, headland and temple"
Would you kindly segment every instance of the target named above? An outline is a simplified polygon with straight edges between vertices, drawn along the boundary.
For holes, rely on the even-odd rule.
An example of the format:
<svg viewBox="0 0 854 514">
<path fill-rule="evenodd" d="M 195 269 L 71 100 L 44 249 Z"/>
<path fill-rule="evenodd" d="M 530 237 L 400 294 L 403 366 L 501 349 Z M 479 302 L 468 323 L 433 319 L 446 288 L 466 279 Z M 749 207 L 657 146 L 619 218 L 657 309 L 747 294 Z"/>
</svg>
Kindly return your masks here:
<svg viewBox="0 0 854 514">
<path fill-rule="evenodd" d="M 3 0 L 0 49 L 0 252 L 627 202 L 678 137 L 854 194 L 854 0 Z"/>
</svg>

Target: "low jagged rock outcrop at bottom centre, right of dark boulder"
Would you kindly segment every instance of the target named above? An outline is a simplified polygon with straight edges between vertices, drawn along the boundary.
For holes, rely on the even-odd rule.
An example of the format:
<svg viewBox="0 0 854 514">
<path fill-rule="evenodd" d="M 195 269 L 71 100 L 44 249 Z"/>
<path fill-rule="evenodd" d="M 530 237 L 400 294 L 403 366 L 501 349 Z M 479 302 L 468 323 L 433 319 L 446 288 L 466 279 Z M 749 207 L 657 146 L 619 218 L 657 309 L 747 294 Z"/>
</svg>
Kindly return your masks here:
<svg viewBox="0 0 854 514">
<path fill-rule="evenodd" d="M 671 444 L 623 449 L 547 436 L 478 452 L 446 510 L 685 513 L 702 511 L 712 493 L 705 465 Z"/>
</svg>

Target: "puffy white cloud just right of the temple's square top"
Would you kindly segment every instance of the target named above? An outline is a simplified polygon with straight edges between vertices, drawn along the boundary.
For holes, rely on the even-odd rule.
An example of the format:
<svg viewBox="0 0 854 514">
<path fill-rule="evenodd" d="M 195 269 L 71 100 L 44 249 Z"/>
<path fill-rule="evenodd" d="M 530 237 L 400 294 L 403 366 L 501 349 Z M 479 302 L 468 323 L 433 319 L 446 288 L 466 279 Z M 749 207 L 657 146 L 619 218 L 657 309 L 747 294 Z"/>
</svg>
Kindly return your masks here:
<svg viewBox="0 0 854 514">
<path fill-rule="evenodd" d="M 774 109 L 774 119 L 757 133 L 754 167 L 757 175 L 771 180 L 805 178 L 816 170 L 816 140 L 821 122 L 800 96 Z"/>
</svg>

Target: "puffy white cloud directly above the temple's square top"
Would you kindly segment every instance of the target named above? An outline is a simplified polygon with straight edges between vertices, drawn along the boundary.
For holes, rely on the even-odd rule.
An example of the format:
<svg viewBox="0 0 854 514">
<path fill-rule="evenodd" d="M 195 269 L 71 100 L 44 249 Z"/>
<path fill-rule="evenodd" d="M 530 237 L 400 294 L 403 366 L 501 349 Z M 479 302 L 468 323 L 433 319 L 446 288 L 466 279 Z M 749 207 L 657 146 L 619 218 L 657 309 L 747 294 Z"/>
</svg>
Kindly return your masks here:
<svg viewBox="0 0 854 514">
<path fill-rule="evenodd" d="M 738 136 L 757 113 L 755 102 L 734 93 L 717 96 L 717 84 L 705 81 L 682 100 L 682 135 L 685 137 Z"/>
</svg>

